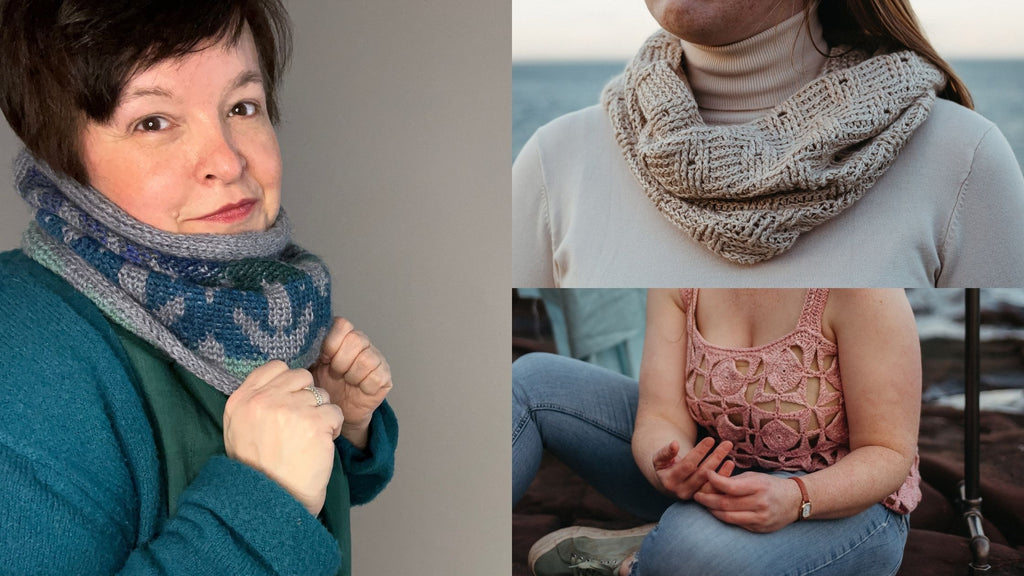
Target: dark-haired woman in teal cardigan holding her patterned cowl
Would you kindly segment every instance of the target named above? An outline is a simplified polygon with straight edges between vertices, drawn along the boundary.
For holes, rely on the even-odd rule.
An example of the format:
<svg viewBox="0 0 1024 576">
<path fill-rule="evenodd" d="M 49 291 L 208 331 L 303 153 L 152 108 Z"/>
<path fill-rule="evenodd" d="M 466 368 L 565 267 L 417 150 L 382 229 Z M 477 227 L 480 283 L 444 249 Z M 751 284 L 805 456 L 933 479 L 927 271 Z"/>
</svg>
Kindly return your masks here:
<svg viewBox="0 0 1024 576">
<path fill-rule="evenodd" d="M 13 573 L 348 574 L 387 361 L 280 208 L 278 0 L 0 2 L 35 209 L 0 255 Z"/>
</svg>

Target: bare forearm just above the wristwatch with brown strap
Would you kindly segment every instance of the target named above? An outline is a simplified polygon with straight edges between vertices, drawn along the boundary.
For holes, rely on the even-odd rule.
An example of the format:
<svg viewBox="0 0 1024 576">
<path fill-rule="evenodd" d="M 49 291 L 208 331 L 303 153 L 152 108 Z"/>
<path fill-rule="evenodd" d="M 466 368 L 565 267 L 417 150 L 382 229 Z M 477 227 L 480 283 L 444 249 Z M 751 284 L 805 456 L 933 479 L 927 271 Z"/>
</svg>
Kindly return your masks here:
<svg viewBox="0 0 1024 576">
<path fill-rule="evenodd" d="M 831 466 L 803 477 L 811 500 L 811 517 L 847 518 L 885 500 L 902 486 L 913 458 L 914 454 L 891 448 L 864 446 Z"/>
</svg>

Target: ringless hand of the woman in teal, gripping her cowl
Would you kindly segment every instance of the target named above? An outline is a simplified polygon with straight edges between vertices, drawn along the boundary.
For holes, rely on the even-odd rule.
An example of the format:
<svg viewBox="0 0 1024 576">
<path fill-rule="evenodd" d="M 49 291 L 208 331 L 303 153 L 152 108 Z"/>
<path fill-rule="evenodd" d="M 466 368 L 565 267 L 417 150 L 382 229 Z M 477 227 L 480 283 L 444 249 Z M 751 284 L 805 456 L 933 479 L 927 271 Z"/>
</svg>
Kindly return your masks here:
<svg viewBox="0 0 1024 576">
<path fill-rule="evenodd" d="M 316 385 L 331 394 L 345 415 L 341 435 L 356 448 L 366 448 L 374 410 L 391 390 L 387 360 L 351 322 L 336 318 L 310 370 Z"/>
</svg>

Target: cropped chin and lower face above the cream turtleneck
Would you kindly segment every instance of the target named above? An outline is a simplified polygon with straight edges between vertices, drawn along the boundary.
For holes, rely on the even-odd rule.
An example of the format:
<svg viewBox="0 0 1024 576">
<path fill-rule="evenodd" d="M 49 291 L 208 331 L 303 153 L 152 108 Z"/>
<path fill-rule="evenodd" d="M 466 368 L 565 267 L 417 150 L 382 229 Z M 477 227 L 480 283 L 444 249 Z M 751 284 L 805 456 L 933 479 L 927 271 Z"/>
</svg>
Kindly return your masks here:
<svg viewBox="0 0 1024 576">
<path fill-rule="evenodd" d="M 645 0 L 666 31 L 687 42 L 723 46 L 745 40 L 804 9 L 807 0 Z"/>
</svg>

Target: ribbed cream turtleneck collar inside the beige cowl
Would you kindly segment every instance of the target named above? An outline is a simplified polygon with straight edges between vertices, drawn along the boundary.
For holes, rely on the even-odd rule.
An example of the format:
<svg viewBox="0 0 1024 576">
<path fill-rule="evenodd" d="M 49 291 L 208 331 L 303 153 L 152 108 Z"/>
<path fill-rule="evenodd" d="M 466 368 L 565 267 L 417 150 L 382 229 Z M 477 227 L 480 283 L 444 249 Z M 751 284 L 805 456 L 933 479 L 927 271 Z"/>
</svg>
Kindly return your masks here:
<svg viewBox="0 0 1024 576">
<path fill-rule="evenodd" d="M 817 78 L 826 59 L 818 50 L 827 52 L 827 46 L 816 9 L 808 19 L 809 27 L 801 10 L 774 28 L 725 46 L 681 40 L 686 77 L 703 121 L 750 122 Z"/>
</svg>

